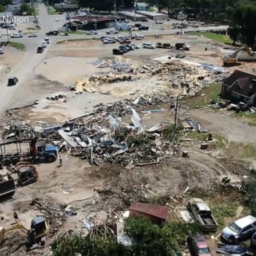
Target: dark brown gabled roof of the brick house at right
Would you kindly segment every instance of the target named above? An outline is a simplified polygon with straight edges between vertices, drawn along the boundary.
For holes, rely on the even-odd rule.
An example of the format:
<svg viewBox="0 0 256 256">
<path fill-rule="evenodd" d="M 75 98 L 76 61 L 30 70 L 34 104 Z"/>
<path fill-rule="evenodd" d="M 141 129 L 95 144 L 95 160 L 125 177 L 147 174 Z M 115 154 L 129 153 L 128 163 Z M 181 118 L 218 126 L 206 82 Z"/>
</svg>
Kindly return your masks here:
<svg viewBox="0 0 256 256">
<path fill-rule="evenodd" d="M 256 75 L 246 73 L 240 70 L 235 70 L 223 83 L 232 87 L 235 83 L 239 83 L 239 89 L 235 90 L 238 93 L 248 96 L 251 86 L 251 81 L 256 80 Z M 256 93 L 256 86 L 254 87 L 254 93 Z"/>
</svg>

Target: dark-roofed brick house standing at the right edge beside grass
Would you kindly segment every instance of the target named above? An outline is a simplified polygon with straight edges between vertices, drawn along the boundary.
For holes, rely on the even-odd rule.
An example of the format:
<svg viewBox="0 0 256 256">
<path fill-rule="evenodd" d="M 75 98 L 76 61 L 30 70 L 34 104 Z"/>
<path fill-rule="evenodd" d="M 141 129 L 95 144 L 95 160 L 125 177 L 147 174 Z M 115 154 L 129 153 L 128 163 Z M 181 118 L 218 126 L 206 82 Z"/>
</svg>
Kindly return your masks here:
<svg viewBox="0 0 256 256">
<path fill-rule="evenodd" d="M 235 70 L 222 83 L 221 97 L 234 103 L 256 105 L 256 75 Z"/>
</svg>

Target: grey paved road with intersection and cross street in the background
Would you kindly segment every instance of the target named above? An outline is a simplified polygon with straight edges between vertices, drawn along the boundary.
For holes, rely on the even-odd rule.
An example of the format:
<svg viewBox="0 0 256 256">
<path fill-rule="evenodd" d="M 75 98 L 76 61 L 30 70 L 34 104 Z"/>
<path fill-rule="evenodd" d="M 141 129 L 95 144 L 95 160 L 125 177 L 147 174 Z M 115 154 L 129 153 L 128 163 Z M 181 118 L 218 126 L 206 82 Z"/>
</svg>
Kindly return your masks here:
<svg viewBox="0 0 256 256">
<path fill-rule="evenodd" d="M 48 48 L 41 54 L 36 54 L 36 49 L 40 45 L 41 41 L 45 38 L 45 33 L 54 30 L 59 29 L 59 27 L 62 25 L 61 22 L 55 22 L 56 17 L 61 17 L 62 20 L 64 20 L 64 15 L 48 15 L 47 11 L 45 9 L 45 5 L 39 4 L 39 23 L 41 26 L 41 31 L 38 32 L 38 37 L 29 38 L 27 35 L 25 35 L 23 38 L 20 39 L 11 39 L 11 41 L 19 41 L 21 43 L 24 43 L 27 47 L 27 50 L 25 51 L 23 55 L 23 59 L 19 62 L 18 65 L 16 65 L 9 74 L 3 75 L 0 77 L 0 115 L 5 111 L 5 109 L 8 107 L 8 104 L 10 102 L 11 97 L 13 96 L 13 93 L 15 93 L 16 89 L 18 87 L 21 87 L 25 81 L 28 81 L 32 78 L 33 75 L 33 69 L 39 65 L 43 59 L 45 58 L 45 55 L 47 54 Z M 219 27 L 199 27 L 196 30 L 197 31 L 204 31 L 205 29 L 208 30 L 215 30 L 215 29 L 227 29 L 227 26 L 219 26 Z M 99 31 L 98 35 L 77 35 L 77 34 L 71 34 L 67 37 L 64 36 L 52 36 L 50 37 L 51 43 L 66 40 L 66 39 L 85 39 L 85 38 L 100 38 L 103 35 L 106 35 L 105 31 L 107 29 L 102 29 Z M 163 35 L 163 34 L 175 34 L 177 31 L 180 31 L 180 29 L 169 29 L 169 30 L 159 30 L 159 29 L 151 29 L 149 31 L 139 31 L 143 33 L 144 35 Z M 195 31 L 195 28 L 187 28 L 183 29 L 183 31 Z M 126 32 L 127 33 L 127 32 Z M 121 33 L 124 34 L 125 33 Z M 128 35 L 128 33 L 127 33 Z M 3 39 L 5 39 L 5 36 L 3 36 Z M 53 67 L 54 68 L 54 67 Z M 19 83 L 13 87 L 7 87 L 7 79 L 9 76 L 16 76 L 19 79 Z M 20 99 L 21 103 L 23 99 Z"/>
</svg>

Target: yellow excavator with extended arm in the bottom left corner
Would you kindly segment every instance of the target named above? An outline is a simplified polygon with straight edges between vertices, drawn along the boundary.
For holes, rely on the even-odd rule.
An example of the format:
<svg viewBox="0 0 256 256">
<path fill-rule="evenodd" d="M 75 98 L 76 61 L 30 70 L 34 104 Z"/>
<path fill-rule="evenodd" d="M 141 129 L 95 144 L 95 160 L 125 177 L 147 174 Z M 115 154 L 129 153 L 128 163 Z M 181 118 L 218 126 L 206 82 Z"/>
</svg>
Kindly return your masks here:
<svg viewBox="0 0 256 256">
<path fill-rule="evenodd" d="M 31 248 L 36 243 L 41 246 L 45 245 L 45 236 L 49 232 L 49 225 L 43 216 L 37 216 L 31 221 L 31 229 L 25 228 L 21 223 L 0 227 L 0 245 L 3 243 L 5 235 L 15 229 L 19 229 L 27 234 L 25 245 L 27 248 Z"/>
</svg>

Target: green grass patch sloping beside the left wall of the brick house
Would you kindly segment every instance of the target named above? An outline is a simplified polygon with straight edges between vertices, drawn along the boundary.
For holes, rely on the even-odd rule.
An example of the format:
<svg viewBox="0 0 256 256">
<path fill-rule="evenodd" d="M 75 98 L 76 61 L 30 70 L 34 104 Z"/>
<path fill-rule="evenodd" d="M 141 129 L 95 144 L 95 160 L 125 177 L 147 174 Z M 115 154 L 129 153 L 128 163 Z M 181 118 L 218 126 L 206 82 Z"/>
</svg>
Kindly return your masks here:
<svg viewBox="0 0 256 256">
<path fill-rule="evenodd" d="M 215 99 L 215 101 L 217 101 L 220 93 L 221 84 L 213 83 L 209 85 L 209 87 L 205 87 L 204 89 L 202 89 L 197 95 L 193 97 L 185 97 L 184 99 L 182 99 L 182 101 L 183 103 L 187 103 L 187 105 L 192 108 L 203 107 L 205 105 L 208 105 L 211 99 Z"/>
</svg>

